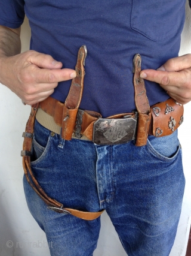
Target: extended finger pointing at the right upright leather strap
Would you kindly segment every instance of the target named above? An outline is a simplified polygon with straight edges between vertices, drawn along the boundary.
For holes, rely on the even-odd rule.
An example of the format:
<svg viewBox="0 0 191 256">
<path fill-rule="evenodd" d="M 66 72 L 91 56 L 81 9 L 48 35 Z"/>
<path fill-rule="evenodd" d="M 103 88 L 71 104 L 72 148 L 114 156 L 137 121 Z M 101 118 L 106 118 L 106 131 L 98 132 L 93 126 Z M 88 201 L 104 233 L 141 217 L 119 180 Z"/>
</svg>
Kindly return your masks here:
<svg viewBox="0 0 191 256">
<path fill-rule="evenodd" d="M 152 82 L 159 83 L 164 86 L 177 86 L 187 85 L 190 81 L 191 72 L 189 70 L 180 72 L 167 72 L 156 70 L 143 70 L 140 77 Z M 168 91 L 168 89 L 165 89 Z"/>
</svg>

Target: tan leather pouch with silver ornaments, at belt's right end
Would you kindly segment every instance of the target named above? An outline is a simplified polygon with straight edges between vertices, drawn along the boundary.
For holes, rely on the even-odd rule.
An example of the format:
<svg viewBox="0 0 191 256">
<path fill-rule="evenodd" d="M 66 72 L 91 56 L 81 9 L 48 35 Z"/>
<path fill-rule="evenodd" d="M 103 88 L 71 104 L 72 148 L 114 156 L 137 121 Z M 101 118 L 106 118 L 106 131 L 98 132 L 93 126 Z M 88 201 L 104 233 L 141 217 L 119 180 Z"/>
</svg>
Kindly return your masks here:
<svg viewBox="0 0 191 256">
<path fill-rule="evenodd" d="M 152 119 L 149 134 L 156 137 L 170 135 L 183 123 L 184 107 L 169 98 L 150 107 Z"/>
</svg>

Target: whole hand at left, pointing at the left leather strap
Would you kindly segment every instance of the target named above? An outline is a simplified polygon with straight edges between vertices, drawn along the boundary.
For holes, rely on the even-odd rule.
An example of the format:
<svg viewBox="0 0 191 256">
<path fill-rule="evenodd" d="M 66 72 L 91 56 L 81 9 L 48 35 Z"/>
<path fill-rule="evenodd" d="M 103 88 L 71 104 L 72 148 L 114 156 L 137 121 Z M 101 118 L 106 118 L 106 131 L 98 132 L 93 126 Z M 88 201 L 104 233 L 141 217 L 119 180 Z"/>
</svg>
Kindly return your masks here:
<svg viewBox="0 0 191 256">
<path fill-rule="evenodd" d="M 48 98 L 58 82 L 76 77 L 75 70 L 61 69 L 61 62 L 33 50 L 15 56 L 3 56 L 0 66 L 0 82 L 29 105 Z"/>
</svg>

